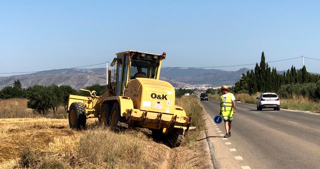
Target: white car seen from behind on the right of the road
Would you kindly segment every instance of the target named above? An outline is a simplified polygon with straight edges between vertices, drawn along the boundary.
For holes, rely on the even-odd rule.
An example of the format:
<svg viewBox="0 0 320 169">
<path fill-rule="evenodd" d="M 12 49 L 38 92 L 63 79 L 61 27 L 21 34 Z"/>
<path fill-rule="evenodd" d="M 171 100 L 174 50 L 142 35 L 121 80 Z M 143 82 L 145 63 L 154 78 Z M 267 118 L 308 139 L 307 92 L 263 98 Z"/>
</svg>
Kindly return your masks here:
<svg viewBox="0 0 320 169">
<path fill-rule="evenodd" d="M 256 110 L 262 110 L 264 108 L 273 108 L 273 110 L 280 110 L 280 100 L 275 93 L 261 93 L 256 101 Z"/>
</svg>

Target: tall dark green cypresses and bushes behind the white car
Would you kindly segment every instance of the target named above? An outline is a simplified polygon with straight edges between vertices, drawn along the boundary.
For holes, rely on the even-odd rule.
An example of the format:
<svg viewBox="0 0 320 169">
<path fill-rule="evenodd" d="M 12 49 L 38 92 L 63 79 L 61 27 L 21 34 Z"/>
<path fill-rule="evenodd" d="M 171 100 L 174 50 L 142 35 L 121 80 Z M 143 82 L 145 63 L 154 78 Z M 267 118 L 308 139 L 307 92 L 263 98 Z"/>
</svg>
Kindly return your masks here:
<svg viewBox="0 0 320 169">
<path fill-rule="evenodd" d="M 283 98 L 301 95 L 317 101 L 320 99 L 319 80 L 320 76 L 307 72 L 305 66 L 296 70 L 292 65 L 286 72 L 278 74 L 275 67 L 270 68 L 268 63 L 265 63 L 262 52 L 260 64 L 256 63 L 254 70 L 243 73 L 240 80 L 234 84 L 233 91 L 250 95 L 257 92 L 273 92 Z"/>
</svg>

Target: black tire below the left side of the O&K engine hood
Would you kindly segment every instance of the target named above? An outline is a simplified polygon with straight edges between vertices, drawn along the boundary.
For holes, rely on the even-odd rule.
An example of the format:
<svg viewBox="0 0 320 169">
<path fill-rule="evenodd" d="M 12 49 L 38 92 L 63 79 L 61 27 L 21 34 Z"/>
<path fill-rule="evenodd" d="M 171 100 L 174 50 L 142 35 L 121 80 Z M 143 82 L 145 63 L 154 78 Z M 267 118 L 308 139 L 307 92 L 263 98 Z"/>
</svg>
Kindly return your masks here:
<svg viewBox="0 0 320 169">
<path fill-rule="evenodd" d="M 120 116 L 120 108 L 118 103 L 113 105 L 109 121 L 110 128 L 113 130 L 124 130 L 128 127 L 128 125 L 124 123 L 125 117 Z"/>
</svg>

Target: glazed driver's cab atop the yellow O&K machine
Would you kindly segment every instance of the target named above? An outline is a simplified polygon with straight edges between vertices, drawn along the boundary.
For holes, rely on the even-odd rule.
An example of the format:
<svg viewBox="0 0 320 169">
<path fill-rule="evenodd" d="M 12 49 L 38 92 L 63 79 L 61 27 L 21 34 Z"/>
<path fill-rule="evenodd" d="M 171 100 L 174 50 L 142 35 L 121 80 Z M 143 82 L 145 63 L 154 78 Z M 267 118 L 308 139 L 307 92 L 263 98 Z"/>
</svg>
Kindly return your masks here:
<svg viewBox="0 0 320 169">
<path fill-rule="evenodd" d="M 116 53 L 110 64 L 115 67 L 113 82 L 110 83 L 110 76 L 108 79 L 109 91 L 114 96 L 121 96 L 128 82 L 135 78 L 159 79 L 162 59 L 165 59 L 165 52 L 162 55 L 132 50 Z"/>
</svg>

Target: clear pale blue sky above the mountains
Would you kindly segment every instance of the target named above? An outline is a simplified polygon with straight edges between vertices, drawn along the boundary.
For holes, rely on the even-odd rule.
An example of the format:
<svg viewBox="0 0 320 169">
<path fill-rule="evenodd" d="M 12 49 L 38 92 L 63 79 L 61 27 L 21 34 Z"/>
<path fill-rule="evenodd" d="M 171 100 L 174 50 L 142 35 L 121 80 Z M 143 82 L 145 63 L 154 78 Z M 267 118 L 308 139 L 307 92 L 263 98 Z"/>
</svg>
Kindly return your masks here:
<svg viewBox="0 0 320 169">
<path fill-rule="evenodd" d="M 254 68 L 262 51 L 278 71 L 300 69 L 303 55 L 307 71 L 320 73 L 319 3 L 2 0 L 0 76 L 110 62 L 126 50 L 166 52 L 165 67 L 226 71 Z"/>
</svg>

